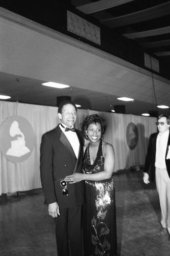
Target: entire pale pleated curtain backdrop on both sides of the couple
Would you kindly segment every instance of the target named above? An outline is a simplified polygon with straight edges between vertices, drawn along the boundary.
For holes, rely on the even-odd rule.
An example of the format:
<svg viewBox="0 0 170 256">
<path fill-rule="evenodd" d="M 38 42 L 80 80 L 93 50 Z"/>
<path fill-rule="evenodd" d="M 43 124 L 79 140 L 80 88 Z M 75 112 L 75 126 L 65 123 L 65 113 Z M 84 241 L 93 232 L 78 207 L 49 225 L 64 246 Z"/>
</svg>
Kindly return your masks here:
<svg viewBox="0 0 170 256">
<path fill-rule="evenodd" d="M 35 135 L 35 146 L 27 160 L 13 163 L 6 159 L 1 152 L 0 195 L 40 188 L 39 159 L 41 136 L 43 133 L 52 130 L 60 122 L 57 115 L 58 108 L 0 101 L 0 110 L 1 126 L 9 117 L 21 116 L 30 122 Z M 155 125 L 156 118 L 78 110 L 76 127 L 81 129 L 83 119 L 91 114 L 102 116 L 108 123 L 103 139 L 111 143 L 114 147 L 116 159 L 114 172 L 120 169 L 128 169 L 133 165 L 144 164 L 149 137 L 157 131 Z M 130 150 L 127 144 L 126 131 L 130 122 L 133 122 L 138 130 L 138 142 L 134 150 Z"/>
</svg>

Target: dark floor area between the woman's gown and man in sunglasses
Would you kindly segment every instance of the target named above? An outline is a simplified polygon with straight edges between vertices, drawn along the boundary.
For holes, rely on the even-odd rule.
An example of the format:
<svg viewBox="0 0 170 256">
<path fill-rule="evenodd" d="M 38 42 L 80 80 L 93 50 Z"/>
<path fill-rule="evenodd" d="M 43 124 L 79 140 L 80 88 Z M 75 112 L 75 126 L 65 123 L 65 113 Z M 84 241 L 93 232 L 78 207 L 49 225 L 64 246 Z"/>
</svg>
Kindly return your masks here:
<svg viewBox="0 0 170 256">
<path fill-rule="evenodd" d="M 142 170 L 114 176 L 118 256 L 169 256 L 168 233 L 160 234 L 155 182 L 143 183 Z"/>
</svg>

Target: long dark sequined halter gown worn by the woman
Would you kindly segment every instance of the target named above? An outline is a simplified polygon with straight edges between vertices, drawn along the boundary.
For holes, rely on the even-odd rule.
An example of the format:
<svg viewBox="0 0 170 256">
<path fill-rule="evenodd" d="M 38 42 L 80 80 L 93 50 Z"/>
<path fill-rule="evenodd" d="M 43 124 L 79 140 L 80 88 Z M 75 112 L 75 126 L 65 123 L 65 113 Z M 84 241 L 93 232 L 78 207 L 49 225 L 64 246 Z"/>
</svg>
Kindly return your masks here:
<svg viewBox="0 0 170 256">
<path fill-rule="evenodd" d="M 89 145 L 84 155 L 83 169 L 88 174 L 104 171 L 102 140 L 94 163 L 90 163 Z M 85 256 L 116 256 L 115 189 L 112 178 L 85 181 L 86 204 L 83 210 Z"/>
</svg>

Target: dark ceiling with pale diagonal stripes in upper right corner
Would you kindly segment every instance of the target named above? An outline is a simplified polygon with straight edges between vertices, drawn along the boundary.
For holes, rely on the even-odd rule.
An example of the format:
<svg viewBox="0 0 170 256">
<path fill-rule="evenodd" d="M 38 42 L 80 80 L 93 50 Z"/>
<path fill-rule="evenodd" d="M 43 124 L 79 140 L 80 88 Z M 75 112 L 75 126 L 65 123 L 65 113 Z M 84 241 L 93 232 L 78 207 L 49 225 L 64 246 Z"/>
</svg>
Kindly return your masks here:
<svg viewBox="0 0 170 256">
<path fill-rule="evenodd" d="M 170 1 L 72 0 L 71 4 L 113 32 L 165 60 L 170 59 Z"/>
</svg>

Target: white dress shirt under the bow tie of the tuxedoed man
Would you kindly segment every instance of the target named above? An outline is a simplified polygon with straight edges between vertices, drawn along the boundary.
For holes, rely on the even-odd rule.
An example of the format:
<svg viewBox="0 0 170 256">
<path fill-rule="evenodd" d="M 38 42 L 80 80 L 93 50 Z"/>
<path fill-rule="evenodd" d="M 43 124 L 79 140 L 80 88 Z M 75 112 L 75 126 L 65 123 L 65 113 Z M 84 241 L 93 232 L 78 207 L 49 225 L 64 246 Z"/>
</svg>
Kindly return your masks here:
<svg viewBox="0 0 170 256">
<path fill-rule="evenodd" d="M 60 129 L 65 134 L 65 136 L 67 137 L 69 143 L 72 146 L 72 149 L 75 152 L 76 157 L 78 158 L 80 143 L 79 143 L 79 139 L 77 137 L 77 133 L 74 133 L 74 132 L 71 132 L 71 131 L 65 132 L 65 127 L 67 127 L 67 126 L 65 126 L 63 123 L 62 123 L 62 125 L 64 126 L 64 128 L 60 125 Z"/>
</svg>

